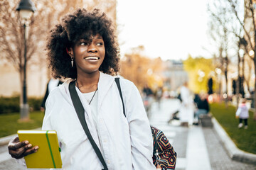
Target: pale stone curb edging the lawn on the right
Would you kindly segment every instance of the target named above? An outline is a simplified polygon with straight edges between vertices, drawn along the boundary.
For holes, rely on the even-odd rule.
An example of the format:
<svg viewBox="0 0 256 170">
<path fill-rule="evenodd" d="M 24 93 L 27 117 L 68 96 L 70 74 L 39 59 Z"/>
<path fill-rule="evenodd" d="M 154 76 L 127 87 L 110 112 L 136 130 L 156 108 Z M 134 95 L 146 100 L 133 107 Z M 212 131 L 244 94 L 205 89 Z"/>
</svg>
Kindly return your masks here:
<svg viewBox="0 0 256 170">
<path fill-rule="evenodd" d="M 213 128 L 215 132 L 220 137 L 220 142 L 224 145 L 225 150 L 228 152 L 228 155 L 231 159 L 238 162 L 245 162 L 249 164 L 256 164 L 256 154 L 251 154 L 248 152 L 244 152 L 235 145 L 233 140 L 230 139 L 227 132 L 221 127 L 218 120 L 214 117 L 212 118 Z"/>
</svg>

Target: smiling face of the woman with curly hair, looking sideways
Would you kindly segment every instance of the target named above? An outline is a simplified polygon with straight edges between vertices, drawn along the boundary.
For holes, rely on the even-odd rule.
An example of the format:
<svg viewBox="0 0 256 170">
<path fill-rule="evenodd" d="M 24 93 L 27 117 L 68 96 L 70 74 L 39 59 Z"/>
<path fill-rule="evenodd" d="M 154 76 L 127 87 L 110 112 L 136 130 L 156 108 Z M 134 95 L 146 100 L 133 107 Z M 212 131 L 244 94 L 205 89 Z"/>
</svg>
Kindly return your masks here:
<svg viewBox="0 0 256 170">
<path fill-rule="evenodd" d="M 71 56 L 78 74 L 92 74 L 99 72 L 100 65 L 105 58 L 104 40 L 100 34 L 92 35 L 88 40 L 78 40 L 70 48 Z"/>
</svg>

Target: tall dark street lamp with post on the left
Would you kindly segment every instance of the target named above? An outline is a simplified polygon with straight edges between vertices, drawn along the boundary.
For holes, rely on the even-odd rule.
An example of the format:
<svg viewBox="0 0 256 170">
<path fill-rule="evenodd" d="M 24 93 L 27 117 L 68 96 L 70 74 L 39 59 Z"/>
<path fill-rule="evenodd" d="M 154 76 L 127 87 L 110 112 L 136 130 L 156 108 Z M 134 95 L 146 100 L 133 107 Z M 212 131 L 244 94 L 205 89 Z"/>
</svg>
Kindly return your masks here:
<svg viewBox="0 0 256 170">
<path fill-rule="evenodd" d="M 28 36 L 27 26 L 30 23 L 33 12 L 36 11 L 36 7 L 31 0 L 21 0 L 18 4 L 16 11 L 18 11 L 19 19 L 24 27 L 24 66 L 23 66 L 23 103 L 21 104 L 21 120 L 28 119 L 28 102 L 26 95 L 26 38 Z"/>
</svg>

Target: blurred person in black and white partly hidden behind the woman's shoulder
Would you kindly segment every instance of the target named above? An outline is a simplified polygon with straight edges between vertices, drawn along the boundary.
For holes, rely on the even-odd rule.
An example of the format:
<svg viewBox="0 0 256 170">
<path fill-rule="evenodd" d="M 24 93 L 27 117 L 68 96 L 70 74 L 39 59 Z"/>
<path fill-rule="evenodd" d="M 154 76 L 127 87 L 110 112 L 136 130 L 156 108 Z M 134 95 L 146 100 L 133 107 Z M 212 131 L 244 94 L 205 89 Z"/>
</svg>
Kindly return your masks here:
<svg viewBox="0 0 256 170">
<path fill-rule="evenodd" d="M 48 81 L 48 84 L 46 86 L 46 94 L 43 97 L 43 101 L 41 103 L 41 111 L 45 111 L 46 110 L 46 99 L 50 94 L 50 91 L 53 91 L 53 89 L 57 86 L 59 86 L 60 84 L 63 84 L 63 81 L 60 81 L 59 79 L 54 79 L 53 77 L 50 78 L 50 80 Z"/>
</svg>

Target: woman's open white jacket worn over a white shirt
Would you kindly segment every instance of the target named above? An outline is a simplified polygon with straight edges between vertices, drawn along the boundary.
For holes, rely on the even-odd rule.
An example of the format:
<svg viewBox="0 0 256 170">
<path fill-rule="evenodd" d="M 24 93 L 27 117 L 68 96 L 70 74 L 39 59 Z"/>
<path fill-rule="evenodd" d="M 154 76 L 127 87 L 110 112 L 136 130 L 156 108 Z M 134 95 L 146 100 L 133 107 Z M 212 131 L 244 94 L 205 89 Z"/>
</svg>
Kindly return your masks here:
<svg viewBox="0 0 256 170">
<path fill-rule="evenodd" d="M 46 101 L 43 130 L 56 130 L 61 143 L 63 169 L 103 168 L 85 135 L 68 91 L 68 82 L 54 89 Z M 103 140 L 105 162 L 108 169 L 150 170 L 156 169 L 152 162 L 153 141 L 149 120 L 138 89 L 131 81 L 120 79 L 124 98 L 122 101 L 114 77 L 100 73 L 97 98 L 98 135 Z M 100 148 L 99 138 L 92 121 L 90 106 L 82 101 L 85 119 L 90 133 Z"/>
</svg>

